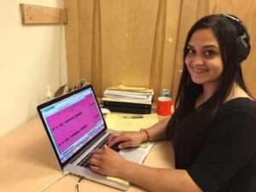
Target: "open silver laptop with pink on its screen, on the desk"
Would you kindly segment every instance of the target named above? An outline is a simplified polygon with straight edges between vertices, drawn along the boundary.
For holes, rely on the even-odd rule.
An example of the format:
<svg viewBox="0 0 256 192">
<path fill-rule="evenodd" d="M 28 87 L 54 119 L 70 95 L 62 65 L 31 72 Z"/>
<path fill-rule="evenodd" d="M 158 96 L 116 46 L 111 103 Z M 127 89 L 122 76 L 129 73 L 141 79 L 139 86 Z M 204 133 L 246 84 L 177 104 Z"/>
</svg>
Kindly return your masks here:
<svg viewBox="0 0 256 192">
<path fill-rule="evenodd" d="M 89 169 L 90 152 L 107 143 L 109 136 L 91 85 L 39 105 L 38 113 L 63 172 L 116 189 L 129 189 L 129 184 L 109 179 Z M 119 153 L 126 160 L 143 163 L 149 150 L 150 147 L 128 148 Z"/>
</svg>

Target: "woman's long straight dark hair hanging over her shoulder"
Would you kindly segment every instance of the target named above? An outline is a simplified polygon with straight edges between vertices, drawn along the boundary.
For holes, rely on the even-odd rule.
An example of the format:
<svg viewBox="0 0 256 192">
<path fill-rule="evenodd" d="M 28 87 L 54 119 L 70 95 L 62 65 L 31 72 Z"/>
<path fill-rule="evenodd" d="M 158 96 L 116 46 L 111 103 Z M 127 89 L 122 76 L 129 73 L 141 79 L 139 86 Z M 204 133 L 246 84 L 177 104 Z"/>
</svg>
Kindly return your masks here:
<svg viewBox="0 0 256 192">
<path fill-rule="evenodd" d="M 177 168 L 191 165 L 196 155 L 200 153 L 202 144 L 207 137 L 207 125 L 211 124 L 218 109 L 230 95 L 233 84 L 236 82 L 242 90 L 248 93 L 241 73 L 241 62 L 247 57 L 249 50 L 243 58 L 236 56 L 239 51 L 236 39 L 241 32 L 234 22 L 236 20 L 230 20 L 226 15 L 207 15 L 198 20 L 187 35 L 183 48 L 183 73 L 177 90 L 175 113 L 167 125 L 166 132 L 167 137 L 172 139 L 174 145 Z M 192 81 L 184 61 L 188 53 L 189 40 L 200 29 L 211 29 L 218 39 L 224 69 L 220 75 L 217 90 L 207 102 L 195 109 L 195 101 L 203 89 L 201 84 L 195 84 Z M 248 49 L 250 49 L 248 34 L 246 41 Z M 249 95 L 251 96 L 251 94 Z"/>
</svg>

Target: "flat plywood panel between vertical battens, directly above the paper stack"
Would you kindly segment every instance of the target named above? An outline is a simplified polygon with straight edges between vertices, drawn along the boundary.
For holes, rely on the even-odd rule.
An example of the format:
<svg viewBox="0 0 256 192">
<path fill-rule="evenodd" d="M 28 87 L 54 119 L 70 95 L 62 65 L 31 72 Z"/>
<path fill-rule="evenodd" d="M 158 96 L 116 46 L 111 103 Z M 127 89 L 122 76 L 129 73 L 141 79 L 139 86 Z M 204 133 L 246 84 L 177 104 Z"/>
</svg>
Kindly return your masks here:
<svg viewBox="0 0 256 192">
<path fill-rule="evenodd" d="M 158 1 L 102 1 L 103 87 L 148 86 Z"/>
</svg>

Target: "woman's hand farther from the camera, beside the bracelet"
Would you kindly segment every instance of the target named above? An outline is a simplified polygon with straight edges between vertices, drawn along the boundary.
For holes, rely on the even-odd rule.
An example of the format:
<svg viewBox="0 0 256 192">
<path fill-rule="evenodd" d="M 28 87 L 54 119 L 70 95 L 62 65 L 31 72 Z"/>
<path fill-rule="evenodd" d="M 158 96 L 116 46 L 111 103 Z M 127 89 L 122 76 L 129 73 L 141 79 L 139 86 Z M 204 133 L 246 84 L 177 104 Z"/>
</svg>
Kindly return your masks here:
<svg viewBox="0 0 256 192">
<path fill-rule="evenodd" d="M 120 132 L 111 133 L 108 139 L 108 147 L 111 148 L 114 144 L 119 143 L 119 148 L 133 148 L 139 146 L 147 140 L 147 135 L 144 132 Z"/>
</svg>

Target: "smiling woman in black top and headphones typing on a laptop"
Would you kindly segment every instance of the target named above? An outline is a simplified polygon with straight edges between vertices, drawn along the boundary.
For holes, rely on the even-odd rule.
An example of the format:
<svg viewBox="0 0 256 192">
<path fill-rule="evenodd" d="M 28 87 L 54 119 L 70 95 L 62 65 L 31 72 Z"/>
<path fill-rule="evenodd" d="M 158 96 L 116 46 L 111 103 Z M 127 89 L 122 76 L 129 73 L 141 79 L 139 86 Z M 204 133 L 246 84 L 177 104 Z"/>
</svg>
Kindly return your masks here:
<svg viewBox="0 0 256 192">
<path fill-rule="evenodd" d="M 172 119 L 140 132 L 113 134 L 108 147 L 138 146 L 169 139 L 175 168 L 153 168 L 124 160 L 107 146 L 96 150 L 90 169 L 123 177 L 148 191 L 252 192 L 256 162 L 256 104 L 241 62 L 250 39 L 241 20 L 208 15 L 189 31 L 183 74 Z"/>
</svg>

